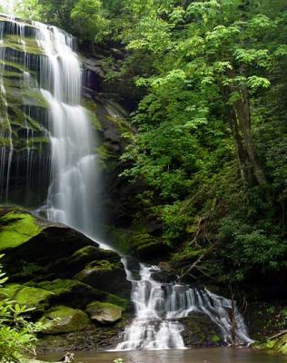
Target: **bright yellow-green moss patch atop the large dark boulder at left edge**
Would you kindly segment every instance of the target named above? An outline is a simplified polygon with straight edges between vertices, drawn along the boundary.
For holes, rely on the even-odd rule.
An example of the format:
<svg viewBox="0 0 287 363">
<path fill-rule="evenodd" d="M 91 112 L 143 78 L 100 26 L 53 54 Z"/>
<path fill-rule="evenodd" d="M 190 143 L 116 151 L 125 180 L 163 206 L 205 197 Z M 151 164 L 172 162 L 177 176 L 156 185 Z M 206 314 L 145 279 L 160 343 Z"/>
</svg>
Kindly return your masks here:
<svg viewBox="0 0 287 363">
<path fill-rule="evenodd" d="M 7 213 L 0 218 L 0 251 L 20 246 L 41 231 L 42 227 L 31 214 Z"/>
</svg>

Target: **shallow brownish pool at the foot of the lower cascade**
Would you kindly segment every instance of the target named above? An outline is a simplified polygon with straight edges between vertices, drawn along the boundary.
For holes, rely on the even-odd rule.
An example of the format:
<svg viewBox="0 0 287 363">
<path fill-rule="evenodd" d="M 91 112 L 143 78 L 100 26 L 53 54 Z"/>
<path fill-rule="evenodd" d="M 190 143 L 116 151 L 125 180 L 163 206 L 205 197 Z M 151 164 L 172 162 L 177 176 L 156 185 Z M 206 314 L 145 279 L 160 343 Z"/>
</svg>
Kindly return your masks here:
<svg viewBox="0 0 287 363">
<path fill-rule="evenodd" d="M 61 353 L 39 355 L 39 359 L 56 361 Z M 128 352 L 76 352 L 76 362 L 113 363 L 123 358 L 124 363 L 287 363 L 287 357 L 253 351 L 247 348 L 210 348 L 184 350 L 136 350 Z"/>
</svg>

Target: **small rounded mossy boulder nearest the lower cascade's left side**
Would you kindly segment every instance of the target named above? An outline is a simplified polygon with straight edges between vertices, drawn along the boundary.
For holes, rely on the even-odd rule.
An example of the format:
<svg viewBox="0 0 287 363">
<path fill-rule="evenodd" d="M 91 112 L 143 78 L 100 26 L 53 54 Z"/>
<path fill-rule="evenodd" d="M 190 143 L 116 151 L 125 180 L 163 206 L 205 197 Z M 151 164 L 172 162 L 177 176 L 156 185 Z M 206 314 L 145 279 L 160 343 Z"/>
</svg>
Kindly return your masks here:
<svg viewBox="0 0 287 363">
<path fill-rule="evenodd" d="M 86 307 L 90 319 L 103 325 L 114 324 L 122 318 L 124 309 L 107 302 L 94 301 Z"/>
</svg>

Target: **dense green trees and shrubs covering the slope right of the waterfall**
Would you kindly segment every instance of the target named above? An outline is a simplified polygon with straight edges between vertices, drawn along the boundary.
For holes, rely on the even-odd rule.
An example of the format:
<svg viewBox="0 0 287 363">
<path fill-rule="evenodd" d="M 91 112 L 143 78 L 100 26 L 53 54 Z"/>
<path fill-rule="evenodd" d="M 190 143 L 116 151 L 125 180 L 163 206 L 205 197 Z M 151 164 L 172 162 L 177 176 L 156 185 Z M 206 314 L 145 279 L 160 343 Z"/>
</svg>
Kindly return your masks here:
<svg viewBox="0 0 287 363">
<path fill-rule="evenodd" d="M 124 175 L 144 178 L 144 213 L 163 222 L 183 271 L 233 283 L 286 270 L 284 0 L 25 0 L 16 10 L 125 50 L 108 81 L 130 80 L 142 96 Z"/>
</svg>

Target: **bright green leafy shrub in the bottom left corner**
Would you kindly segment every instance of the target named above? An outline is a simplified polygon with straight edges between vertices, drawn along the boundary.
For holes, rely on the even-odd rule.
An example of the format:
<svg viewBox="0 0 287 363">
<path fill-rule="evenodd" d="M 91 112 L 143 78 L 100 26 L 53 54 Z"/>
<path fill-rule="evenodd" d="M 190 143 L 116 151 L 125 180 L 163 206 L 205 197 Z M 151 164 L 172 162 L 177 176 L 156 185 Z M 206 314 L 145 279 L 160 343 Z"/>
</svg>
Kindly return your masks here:
<svg viewBox="0 0 287 363">
<path fill-rule="evenodd" d="M 25 320 L 25 315 L 33 309 L 27 309 L 5 297 L 6 280 L 0 265 L 0 362 L 16 362 L 34 354 L 35 332 L 39 326 Z"/>
</svg>

